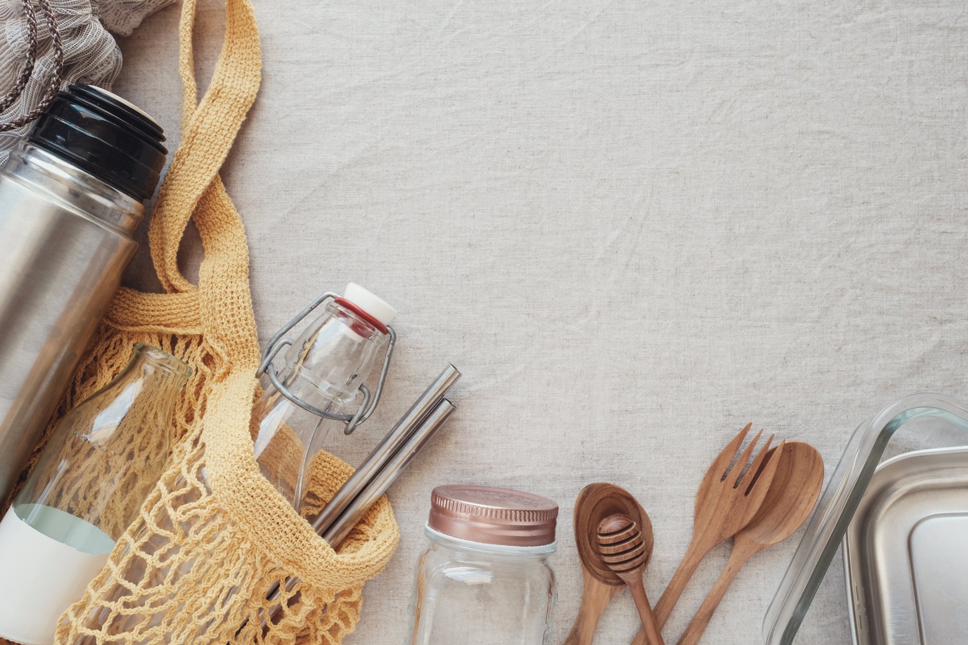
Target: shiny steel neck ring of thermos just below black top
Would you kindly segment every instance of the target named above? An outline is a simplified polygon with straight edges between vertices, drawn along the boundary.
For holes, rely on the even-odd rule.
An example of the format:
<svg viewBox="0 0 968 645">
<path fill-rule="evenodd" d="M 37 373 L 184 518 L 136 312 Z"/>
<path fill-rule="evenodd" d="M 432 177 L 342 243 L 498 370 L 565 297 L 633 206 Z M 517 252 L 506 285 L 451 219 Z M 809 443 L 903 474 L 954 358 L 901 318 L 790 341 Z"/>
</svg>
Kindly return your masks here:
<svg viewBox="0 0 968 645">
<path fill-rule="evenodd" d="M 144 217 L 144 205 L 131 195 L 26 139 L 11 152 L 0 172 L 128 237 L 134 235 Z"/>
</svg>

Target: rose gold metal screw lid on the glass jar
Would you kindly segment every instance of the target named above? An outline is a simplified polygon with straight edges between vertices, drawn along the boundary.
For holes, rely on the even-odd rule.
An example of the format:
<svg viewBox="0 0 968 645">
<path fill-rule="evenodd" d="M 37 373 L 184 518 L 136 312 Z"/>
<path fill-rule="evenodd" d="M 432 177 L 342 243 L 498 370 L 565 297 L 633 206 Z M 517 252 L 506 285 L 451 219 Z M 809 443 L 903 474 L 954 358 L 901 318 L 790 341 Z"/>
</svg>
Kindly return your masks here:
<svg viewBox="0 0 968 645">
<path fill-rule="evenodd" d="M 555 542 L 558 504 L 508 488 L 446 485 L 430 496 L 427 524 L 444 535 L 506 546 Z"/>
</svg>

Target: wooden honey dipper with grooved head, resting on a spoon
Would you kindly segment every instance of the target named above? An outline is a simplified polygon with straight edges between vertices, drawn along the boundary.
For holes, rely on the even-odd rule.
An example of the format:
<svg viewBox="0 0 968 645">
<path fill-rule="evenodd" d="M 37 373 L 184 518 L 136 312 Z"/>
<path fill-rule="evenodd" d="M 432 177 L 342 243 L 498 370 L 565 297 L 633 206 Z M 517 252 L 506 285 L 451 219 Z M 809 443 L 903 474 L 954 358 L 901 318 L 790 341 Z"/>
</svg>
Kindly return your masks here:
<svg viewBox="0 0 968 645">
<path fill-rule="evenodd" d="M 601 553 L 602 561 L 622 579 L 631 592 L 635 608 L 639 610 L 639 618 L 642 619 L 646 642 L 649 645 L 665 645 L 652 617 L 646 587 L 642 583 L 642 572 L 649 564 L 651 556 L 651 549 L 646 548 L 646 542 L 651 544 L 651 536 L 643 538 L 639 526 L 628 515 L 609 515 L 598 525 L 598 552 Z"/>
</svg>

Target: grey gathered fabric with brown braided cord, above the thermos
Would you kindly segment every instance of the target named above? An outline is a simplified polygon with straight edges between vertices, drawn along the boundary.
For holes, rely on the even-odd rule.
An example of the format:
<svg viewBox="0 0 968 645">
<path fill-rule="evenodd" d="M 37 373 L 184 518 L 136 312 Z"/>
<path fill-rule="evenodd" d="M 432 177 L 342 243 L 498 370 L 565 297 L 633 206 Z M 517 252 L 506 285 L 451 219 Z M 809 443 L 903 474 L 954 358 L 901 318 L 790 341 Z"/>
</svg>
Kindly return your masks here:
<svg viewBox="0 0 968 645">
<path fill-rule="evenodd" d="M 121 51 L 110 32 L 130 36 L 148 15 L 174 0 L 49 0 L 64 45 L 61 87 L 84 81 L 111 89 L 121 71 Z M 34 3 L 36 8 L 36 3 Z M 15 85 L 27 56 L 30 39 L 22 0 L 0 0 L 0 96 Z M 0 122 L 13 121 L 44 98 L 54 67 L 50 32 L 43 18 L 37 22 L 39 50 L 34 72 L 18 101 L 0 112 Z M 0 133 L 0 163 L 7 161 L 26 124 Z"/>
</svg>

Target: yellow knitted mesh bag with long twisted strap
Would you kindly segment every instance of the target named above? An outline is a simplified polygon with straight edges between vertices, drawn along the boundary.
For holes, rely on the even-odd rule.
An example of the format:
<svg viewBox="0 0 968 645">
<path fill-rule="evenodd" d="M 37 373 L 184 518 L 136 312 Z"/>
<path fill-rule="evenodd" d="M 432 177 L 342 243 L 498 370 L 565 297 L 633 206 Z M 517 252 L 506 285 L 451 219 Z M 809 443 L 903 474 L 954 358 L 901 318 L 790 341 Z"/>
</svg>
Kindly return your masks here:
<svg viewBox="0 0 968 645">
<path fill-rule="evenodd" d="M 337 553 L 259 473 L 250 430 L 259 352 L 249 251 L 218 174 L 256 98 L 257 25 L 249 0 L 227 0 L 225 43 L 199 102 L 195 13 L 196 0 L 185 0 L 181 144 L 149 228 L 166 293 L 119 292 L 59 413 L 119 373 L 136 342 L 171 352 L 194 373 L 176 406 L 166 472 L 105 569 L 62 617 L 56 642 L 335 644 L 355 626 L 363 583 L 386 565 L 399 532 L 380 498 Z M 204 249 L 197 285 L 176 259 L 189 219 Z M 307 513 L 351 472 L 337 457 L 320 454 L 309 484 L 317 503 Z M 275 605 L 266 596 L 288 577 L 300 581 L 284 592 L 282 611 L 263 629 L 260 618 Z"/>
</svg>

